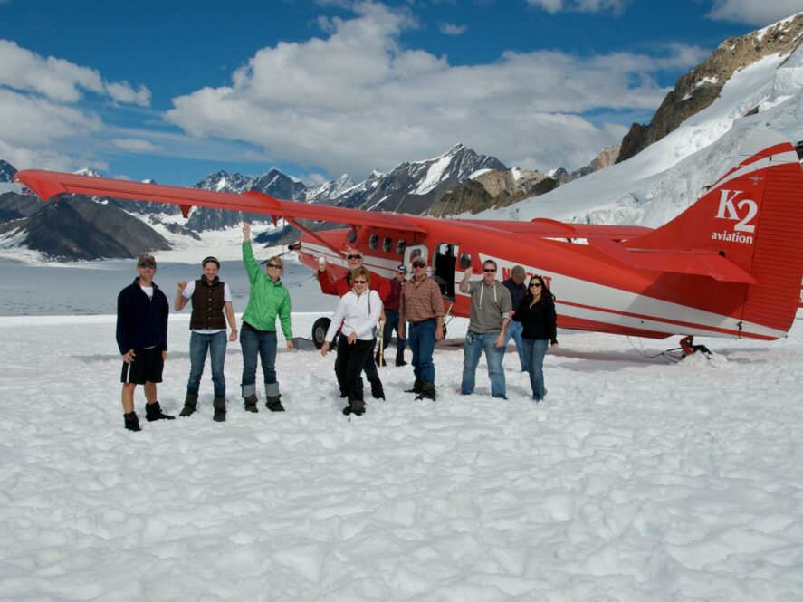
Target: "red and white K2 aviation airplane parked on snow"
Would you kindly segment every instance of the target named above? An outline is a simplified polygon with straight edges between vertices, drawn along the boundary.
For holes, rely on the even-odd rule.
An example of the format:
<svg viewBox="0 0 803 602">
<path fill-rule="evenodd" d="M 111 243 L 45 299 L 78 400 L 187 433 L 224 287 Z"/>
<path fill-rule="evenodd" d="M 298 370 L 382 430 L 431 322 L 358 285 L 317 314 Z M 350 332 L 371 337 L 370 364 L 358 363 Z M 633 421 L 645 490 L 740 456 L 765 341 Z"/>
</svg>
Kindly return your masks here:
<svg viewBox="0 0 803 602">
<path fill-rule="evenodd" d="M 260 192 L 209 192 L 103 177 L 27 170 L 16 180 L 43 200 L 65 193 L 173 203 L 282 217 L 303 233 L 292 245 L 333 279 L 347 270 L 343 251 L 359 249 L 376 276 L 420 257 L 441 286 L 447 316 L 468 316 L 457 284 L 494 260 L 502 277 L 519 264 L 542 274 L 557 296 L 558 326 L 664 339 L 786 336 L 803 276 L 803 171 L 779 134 L 749 139 L 741 155 L 684 213 L 655 230 L 641 226 L 442 219 L 283 201 Z M 299 219 L 348 225 L 313 232 Z M 482 276 L 476 276 L 482 277 Z M 320 323 L 313 339 L 322 342 Z"/>
</svg>

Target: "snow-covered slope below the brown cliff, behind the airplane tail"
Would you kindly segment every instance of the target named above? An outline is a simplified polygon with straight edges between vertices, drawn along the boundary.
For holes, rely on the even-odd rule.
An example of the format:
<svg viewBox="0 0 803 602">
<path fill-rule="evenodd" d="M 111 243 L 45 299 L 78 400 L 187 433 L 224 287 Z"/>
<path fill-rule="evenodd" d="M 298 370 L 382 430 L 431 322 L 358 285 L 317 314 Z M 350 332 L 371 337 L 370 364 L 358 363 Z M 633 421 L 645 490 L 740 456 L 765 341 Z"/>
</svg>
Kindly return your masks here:
<svg viewBox="0 0 803 602">
<path fill-rule="evenodd" d="M 735 73 L 711 106 L 636 157 L 482 216 L 662 225 L 722 175 L 751 134 L 771 129 L 793 143 L 803 139 L 801 102 L 803 47 L 789 57 L 768 56 Z"/>
</svg>

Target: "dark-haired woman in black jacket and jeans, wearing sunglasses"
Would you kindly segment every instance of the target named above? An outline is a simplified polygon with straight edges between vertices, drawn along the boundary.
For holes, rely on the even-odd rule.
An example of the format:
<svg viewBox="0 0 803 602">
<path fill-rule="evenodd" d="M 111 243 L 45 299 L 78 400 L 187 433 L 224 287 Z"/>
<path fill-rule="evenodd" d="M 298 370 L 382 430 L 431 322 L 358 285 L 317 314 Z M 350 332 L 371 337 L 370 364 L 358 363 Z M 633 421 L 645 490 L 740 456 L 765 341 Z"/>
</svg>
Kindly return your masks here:
<svg viewBox="0 0 803 602">
<path fill-rule="evenodd" d="M 524 365 L 530 374 L 532 398 L 539 402 L 547 395 L 544 387 L 544 356 L 550 346 L 558 347 L 555 295 L 541 276 L 532 276 L 524 299 L 513 314 L 521 322 L 521 342 L 524 346 Z"/>
</svg>

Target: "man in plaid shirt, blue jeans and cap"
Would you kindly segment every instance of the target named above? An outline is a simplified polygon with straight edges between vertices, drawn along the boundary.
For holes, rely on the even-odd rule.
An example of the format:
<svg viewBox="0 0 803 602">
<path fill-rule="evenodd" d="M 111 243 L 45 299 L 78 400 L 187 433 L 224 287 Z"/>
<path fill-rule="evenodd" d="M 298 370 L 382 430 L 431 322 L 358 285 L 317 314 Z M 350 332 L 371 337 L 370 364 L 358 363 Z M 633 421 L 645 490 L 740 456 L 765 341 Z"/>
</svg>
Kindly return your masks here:
<svg viewBox="0 0 803 602">
<path fill-rule="evenodd" d="M 405 337 L 405 320 L 410 322 L 407 342 L 413 350 L 413 374 L 416 384 L 408 393 L 416 399 L 435 401 L 435 341 L 444 339 L 444 301 L 441 289 L 426 275 L 426 263 L 413 258 L 413 277 L 402 287 L 398 305 L 398 336 Z"/>
</svg>

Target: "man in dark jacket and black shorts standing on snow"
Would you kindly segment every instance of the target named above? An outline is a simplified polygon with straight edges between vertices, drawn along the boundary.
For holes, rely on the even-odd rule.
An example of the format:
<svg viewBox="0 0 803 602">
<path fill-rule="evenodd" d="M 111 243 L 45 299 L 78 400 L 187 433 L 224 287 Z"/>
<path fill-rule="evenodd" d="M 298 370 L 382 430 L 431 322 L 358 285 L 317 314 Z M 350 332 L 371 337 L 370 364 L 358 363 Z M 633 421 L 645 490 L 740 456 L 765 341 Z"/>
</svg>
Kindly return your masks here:
<svg viewBox="0 0 803 602">
<path fill-rule="evenodd" d="M 117 345 L 123 358 L 120 381 L 123 418 L 129 431 L 139 431 L 139 418 L 134 412 L 134 389 L 145 388 L 145 417 L 172 420 L 162 412 L 157 400 L 157 383 L 167 359 L 167 315 L 170 312 L 165 293 L 153 282 L 156 260 L 142 254 L 137 260 L 139 276 L 120 291 L 117 298 Z"/>
</svg>

